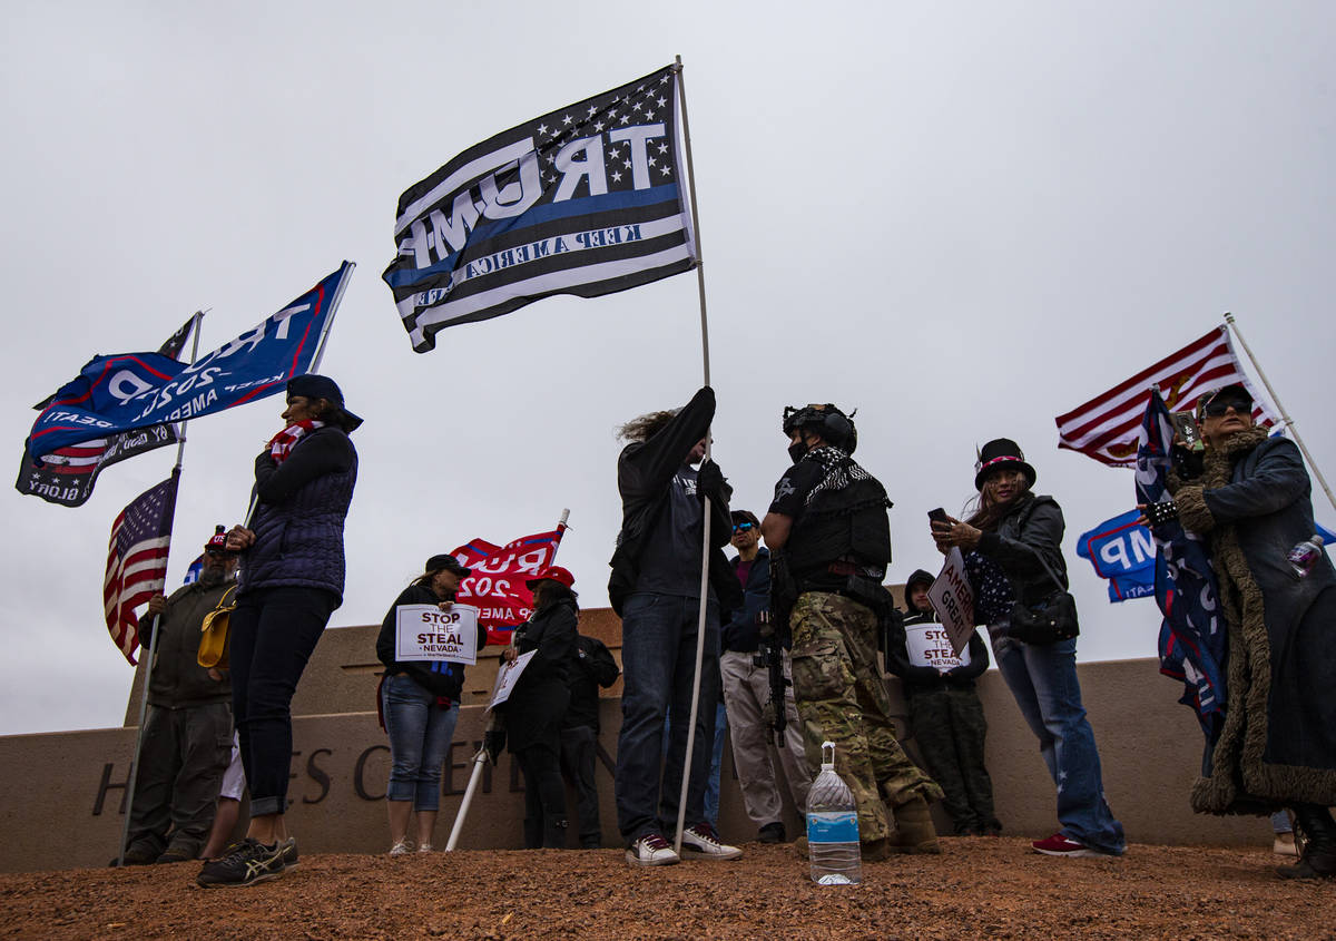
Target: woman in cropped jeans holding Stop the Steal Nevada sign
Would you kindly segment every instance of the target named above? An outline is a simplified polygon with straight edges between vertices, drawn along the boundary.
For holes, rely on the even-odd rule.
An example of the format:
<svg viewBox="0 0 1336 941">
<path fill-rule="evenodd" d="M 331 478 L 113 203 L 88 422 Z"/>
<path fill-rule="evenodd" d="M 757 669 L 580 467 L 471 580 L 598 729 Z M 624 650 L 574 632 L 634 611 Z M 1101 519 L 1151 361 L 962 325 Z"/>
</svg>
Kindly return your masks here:
<svg viewBox="0 0 1336 941">
<path fill-rule="evenodd" d="M 464 691 L 464 664 L 449 660 L 398 659 L 398 624 L 409 608 L 449 612 L 460 583 L 469 577 L 452 555 L 426 560 L 424 572 L 399 592 L 381 624 L 375 655 L 385 664 L 379 704 L 385 731 L 390 736 L 390 783 L 385 803 L 390 814 L 390 855 L 411 853 L 409 818 L 417 814 L 418 853 L 432 851 L 432 831 L 441 807 L 441 766 L 450 750 L 454 724 L 460 720 Z M 415 611 L 414 611 L 415 614 Z M 429 631 L 437 635 L 433 626 Z M 476 647 L 488 642 L 486 631 L 476 631 Z"/>
</svg>

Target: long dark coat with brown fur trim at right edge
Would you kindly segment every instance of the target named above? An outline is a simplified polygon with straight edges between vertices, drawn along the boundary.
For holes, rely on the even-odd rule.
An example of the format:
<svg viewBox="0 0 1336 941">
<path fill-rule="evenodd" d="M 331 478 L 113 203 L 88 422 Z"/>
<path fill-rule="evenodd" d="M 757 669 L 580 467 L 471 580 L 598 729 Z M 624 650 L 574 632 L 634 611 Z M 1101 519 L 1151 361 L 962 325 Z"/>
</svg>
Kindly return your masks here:
<svg viewBox="0 0 1336 941">
<path fill-rule="evenodd" d="M 1336 803 L 1336 569 L 1300 579 L 1312 485 L 1293 441 L 1250 428 L 1170 479 L 1182 524 L 1209 537 L 1228 626 L 1225 723 L 1192 793 L 1198 813 Z"/>
</svg>

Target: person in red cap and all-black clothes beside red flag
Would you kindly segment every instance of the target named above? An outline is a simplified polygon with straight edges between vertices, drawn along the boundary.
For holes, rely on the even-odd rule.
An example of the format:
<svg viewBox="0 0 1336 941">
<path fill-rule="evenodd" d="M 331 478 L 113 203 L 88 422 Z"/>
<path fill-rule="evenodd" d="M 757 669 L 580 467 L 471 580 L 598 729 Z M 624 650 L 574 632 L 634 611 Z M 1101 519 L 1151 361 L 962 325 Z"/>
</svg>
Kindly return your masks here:
<svg viewBox="0 0 1336 941">
<path fill-rule="evenodd" d="M 524 773 L 524 846 L 566 846 L 566 786 L 561 781 L 561 720 L 570 703 L 570 667 L 576 658 L 580 611 L 572 591 L 574 576 L 549 565 L 525 581 L 533 592 L 533 615 L 514 630 L 501 654 L 524 664 L 510 698 L 497 706 L 505 715 L 510 754 Z"/>
</svg>

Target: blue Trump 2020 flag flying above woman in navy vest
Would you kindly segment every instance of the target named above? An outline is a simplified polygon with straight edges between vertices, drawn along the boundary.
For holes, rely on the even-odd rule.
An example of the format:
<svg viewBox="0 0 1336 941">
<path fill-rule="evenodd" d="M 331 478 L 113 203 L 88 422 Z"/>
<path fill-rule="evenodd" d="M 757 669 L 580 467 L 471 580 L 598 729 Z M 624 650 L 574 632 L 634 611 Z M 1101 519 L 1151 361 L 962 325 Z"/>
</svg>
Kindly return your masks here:
<svg viewBox="0 0 1336 941">
<path fill-rule="evenodd" d="M 164 421 L 214 414 L 283 392 L 310 372 L 353 270 L 350 262 L 253 330 L 184 365 L 160 353 L 99 356 L 43 409 L 32 456 Z"/>
</svg>

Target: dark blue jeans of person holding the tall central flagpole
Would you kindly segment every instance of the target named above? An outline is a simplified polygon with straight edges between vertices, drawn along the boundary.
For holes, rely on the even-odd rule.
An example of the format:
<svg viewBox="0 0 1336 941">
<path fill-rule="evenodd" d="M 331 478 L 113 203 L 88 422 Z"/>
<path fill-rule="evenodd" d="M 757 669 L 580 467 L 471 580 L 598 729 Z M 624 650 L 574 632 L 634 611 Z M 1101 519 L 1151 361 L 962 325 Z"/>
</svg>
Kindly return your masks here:
<svg viewBox="0 0 1336 941">
<path fill-rule="evenodd" d="M 617 735 L 617 829 L 633 842 L 677 825 L 677 802 L 687 754 L 691 688 L 696 672 L 700 600 L 636 592 L 621 620 L 621 732 Z M 705 652 L 700 664 L 700 706 L 691 755 L 685 826 L 705 822 L 705 786 L 715 745 L 719 702 L 719 608 L 705 614 Z M 664 716 L 672 707 L 668 757 L 663 755 Z M 660 765 L 663 797 L 660 801 Z M 660 813 L 663 818 L 660 819 Z"/>
</svg>

